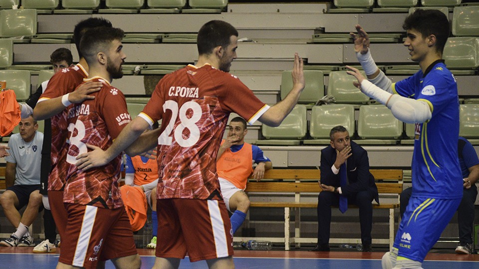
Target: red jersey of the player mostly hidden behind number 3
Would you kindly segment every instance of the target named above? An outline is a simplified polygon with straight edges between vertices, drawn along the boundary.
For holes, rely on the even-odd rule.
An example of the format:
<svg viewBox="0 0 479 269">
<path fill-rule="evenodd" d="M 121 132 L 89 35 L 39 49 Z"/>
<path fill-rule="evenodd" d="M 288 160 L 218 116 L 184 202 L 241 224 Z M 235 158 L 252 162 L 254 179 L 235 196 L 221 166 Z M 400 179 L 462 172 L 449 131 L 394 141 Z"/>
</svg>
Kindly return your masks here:
<svg viewBox="0 0 479 269">
<path fill-rule="evenodd" d="M 48 81 L 38 102 L 73 92 L 86 77 L 88 73 L 80 64 L 62 69 Z M 67 109 L 51 118 L 51 171 L 48 176 L 48 190 L 62 190 L 70 169 L 70 163 L 65 161 L 68 148 L 66 113 Z"/>
</svg>

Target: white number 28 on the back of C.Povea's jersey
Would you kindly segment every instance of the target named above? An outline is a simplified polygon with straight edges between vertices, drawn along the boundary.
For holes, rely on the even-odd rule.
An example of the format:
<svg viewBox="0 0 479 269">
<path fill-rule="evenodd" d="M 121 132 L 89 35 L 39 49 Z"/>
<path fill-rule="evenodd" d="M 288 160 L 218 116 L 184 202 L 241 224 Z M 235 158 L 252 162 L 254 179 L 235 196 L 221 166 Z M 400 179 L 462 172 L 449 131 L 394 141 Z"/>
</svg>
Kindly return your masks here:
<svg viewBox="0 0 479 269">
<path fill-rule="evenodd" d="M 171 120 L 163 133 L 158 137 L 158 144 L 171 145 L 173 141 L 171 133 L 173 133 L 176 142 L 182 147 L 190 147 L 196 144 L 200 139 L 200 128 L 198 128 L 196 123 L 201 119 L 201 106 L 196 102 L 188 101 L 178 110 L 178 103 L 176 101 L 167 100 L 165 104 L 163 104 L 163 112 L 166 112 L 167 110 L 171 111 Z M 191 118 L 188 118 L 187 116 L 189 110 L 192 111 Z M 175 130 L 173 130 L 178 116 L 180 117 L 180 122 Z M 190 131 L 190 136 L 187 138 L 183 136 L 183 131 L 185 129 Z"/>
</svg>

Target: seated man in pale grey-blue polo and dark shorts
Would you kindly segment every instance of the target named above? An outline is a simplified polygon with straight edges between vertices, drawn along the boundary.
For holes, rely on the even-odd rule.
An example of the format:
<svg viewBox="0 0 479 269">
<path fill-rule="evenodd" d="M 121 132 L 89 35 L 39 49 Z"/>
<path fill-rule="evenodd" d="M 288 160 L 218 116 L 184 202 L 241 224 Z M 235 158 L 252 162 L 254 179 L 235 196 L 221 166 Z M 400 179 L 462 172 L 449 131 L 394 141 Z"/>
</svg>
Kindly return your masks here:
<svg viewBox="0 0 479 269">
<path fill-rule="evenodd" d="M 6 190 L 0 203 L 8 221 L 16 231 L 0 241 L 5 247 L 31 247 L 33 238 L 28 226 L 35 220 L 42 204 L 40 190 L 40 160 L 43 134 L 31 116 L 20 121 L 20 133 L 12 134 L 8 141 L 9 155 L 5 157 Z M 18 212 L 26 205 L 23 215 Z"/>
</svg>

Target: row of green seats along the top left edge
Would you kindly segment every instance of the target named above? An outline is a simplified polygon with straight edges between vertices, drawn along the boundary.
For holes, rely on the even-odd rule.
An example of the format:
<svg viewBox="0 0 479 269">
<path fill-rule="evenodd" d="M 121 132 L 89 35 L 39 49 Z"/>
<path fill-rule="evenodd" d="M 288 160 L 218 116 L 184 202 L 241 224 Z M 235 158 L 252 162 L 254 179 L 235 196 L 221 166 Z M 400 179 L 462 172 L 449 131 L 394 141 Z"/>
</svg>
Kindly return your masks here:
<svg viewBox="0 0 479 269">
<path fill-rule="evenodd" d="M 143 12 L 179 13 L 204 12 L 214 9 L 221 12 L 228 5 L 228 0 L 0 0 L 0 8 L 11 8 L 13 5 L 23 8 L 38 9 L 39 13 L 92 13 L 93 10 L 109 13 Z M 112 10 L 114 9 L 114 10 Z M 199 10 L 200 9 L 200 10 Z M 189 11 L 187 11 L 189 10 Z"/>
</svg>

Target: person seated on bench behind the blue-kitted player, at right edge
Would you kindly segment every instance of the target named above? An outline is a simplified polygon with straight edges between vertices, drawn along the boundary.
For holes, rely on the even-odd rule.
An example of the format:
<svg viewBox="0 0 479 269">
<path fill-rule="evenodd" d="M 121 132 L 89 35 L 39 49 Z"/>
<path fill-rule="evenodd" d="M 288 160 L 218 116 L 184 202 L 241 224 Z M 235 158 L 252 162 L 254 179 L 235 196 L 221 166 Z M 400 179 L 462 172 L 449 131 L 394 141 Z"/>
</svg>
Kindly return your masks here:
<svg viewBox="0 0 479 269">
<path fill-rule="evenodd" d="M 459 137 L 458 142 L 459 164 L 463 172 L 464 190 L 463 199 L 458 207 L 459 224 L 459 246 L 456 248 L 458 254 L 473 254 L 473 226 L 474 226 L 474 203 L 478 196 L 476 182 L 479 179 L 479 158 L 474 146 L 464 137 Z M 400 211 L 403 217 L 413 188 L 409 187 L 401 193 Z"/>
</svg>

